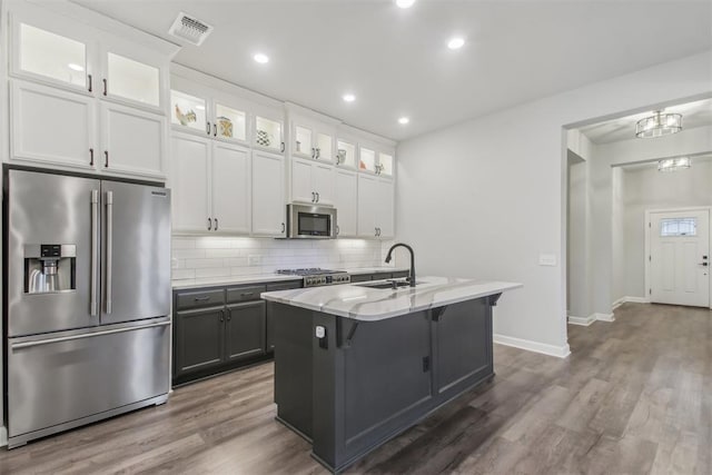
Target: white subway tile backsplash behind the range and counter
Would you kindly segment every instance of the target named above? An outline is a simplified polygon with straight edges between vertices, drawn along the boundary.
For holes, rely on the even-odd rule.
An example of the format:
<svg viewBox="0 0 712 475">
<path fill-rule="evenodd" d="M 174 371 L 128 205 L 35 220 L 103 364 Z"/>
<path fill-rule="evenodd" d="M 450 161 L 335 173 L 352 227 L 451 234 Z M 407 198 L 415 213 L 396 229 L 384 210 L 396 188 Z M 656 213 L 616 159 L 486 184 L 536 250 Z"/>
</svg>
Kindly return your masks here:
<svg viewBox="0 0 712 475">
<path fill-rule="evenodd" d="M 172 278 L 249 276 L 297 267 L 385 266 L 390 244 L 365 239 L 174 237 Z"/>
</svg>

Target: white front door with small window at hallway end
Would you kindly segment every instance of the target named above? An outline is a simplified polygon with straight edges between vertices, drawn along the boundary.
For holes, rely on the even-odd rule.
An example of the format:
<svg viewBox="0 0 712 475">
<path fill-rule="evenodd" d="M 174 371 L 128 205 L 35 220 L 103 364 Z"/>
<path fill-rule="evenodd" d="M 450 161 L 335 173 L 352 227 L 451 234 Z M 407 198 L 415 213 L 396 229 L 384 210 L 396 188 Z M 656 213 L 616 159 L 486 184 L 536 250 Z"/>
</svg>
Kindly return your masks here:
<svg viewBox="0 0 712 475">
<path fill-rule="evenodd" d="M 710 211 L 651 212 L 651 301 L 710 306 Z"/>
</svg>

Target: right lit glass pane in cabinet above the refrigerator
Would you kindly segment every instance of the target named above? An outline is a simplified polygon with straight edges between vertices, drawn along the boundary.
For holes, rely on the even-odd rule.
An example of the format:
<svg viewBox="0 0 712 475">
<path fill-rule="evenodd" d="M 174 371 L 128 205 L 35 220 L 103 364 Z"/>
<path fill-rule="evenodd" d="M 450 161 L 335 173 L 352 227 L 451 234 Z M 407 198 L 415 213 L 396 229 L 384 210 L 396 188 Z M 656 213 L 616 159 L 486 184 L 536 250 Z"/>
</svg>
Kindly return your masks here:
<svg viewBox="0 0 712 475">
<path fill-rule="evenodd" d="M 160 105 L 158 68 L 119 55 L 108 55 L 108 89 L 111 96 L 131 99 L 149 106 Z"/>
</svg>

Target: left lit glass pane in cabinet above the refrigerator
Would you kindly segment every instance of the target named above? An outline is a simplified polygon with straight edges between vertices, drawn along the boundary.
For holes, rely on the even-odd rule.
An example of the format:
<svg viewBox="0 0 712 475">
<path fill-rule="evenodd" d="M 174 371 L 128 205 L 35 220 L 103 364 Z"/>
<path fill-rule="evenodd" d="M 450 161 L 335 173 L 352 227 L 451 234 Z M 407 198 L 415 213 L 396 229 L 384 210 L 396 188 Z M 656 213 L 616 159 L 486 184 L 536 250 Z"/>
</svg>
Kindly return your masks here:
<svg viewBox="0 0 712 475">
<path fill-rule="evenodd" d="M 20 69 L 70 85 L 87 85 L 87 47 L 80 41 L 20 24 Z"/>
</svg>

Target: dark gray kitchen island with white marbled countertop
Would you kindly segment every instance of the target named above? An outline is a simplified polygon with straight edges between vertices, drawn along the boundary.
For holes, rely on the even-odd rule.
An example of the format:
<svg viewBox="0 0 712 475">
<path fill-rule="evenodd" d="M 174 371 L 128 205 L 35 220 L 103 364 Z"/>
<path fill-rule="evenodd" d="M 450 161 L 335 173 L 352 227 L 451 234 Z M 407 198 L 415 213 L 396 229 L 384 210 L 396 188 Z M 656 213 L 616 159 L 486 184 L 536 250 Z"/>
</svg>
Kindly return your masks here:
<svg viewBox="0 0 712 475">
<path fill-rule="evenodd" d="M 265 293 L 277 419 L 339 472 L 494 376 L 492 307 L 512 283 L 422 277 Z"/>
</svg>

